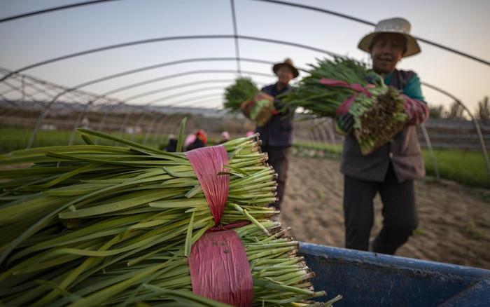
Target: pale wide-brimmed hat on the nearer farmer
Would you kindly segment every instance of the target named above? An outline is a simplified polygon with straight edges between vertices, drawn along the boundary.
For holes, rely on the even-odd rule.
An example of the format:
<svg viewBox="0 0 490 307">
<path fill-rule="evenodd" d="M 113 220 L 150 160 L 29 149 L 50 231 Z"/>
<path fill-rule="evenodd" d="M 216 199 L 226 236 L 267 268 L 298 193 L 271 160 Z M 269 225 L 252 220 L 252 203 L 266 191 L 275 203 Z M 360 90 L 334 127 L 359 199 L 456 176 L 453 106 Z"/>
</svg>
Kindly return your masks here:
<svg viewBox="0 0 490 307">
<path fill-rule="evenodd" d="M 403 57 L 409 57 L 410 55 L 416 55 L 420 52 L 419 44 L 416 39 L 410 35 L 410 22 L 404 18 L 390 18 L 381 20 L 374 28 L 374 32 L 367 34 L 359 41 L 358 48 L 364 50 L 367 53 L 371 52 L 372 42 L 374 37 L 381 33 L 398 33 L 405 36 L 407 39 L 407 50 L 403 54 Z"/>
</svg>

